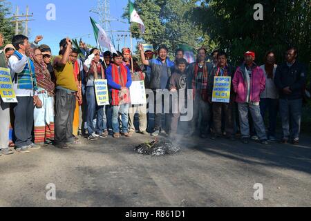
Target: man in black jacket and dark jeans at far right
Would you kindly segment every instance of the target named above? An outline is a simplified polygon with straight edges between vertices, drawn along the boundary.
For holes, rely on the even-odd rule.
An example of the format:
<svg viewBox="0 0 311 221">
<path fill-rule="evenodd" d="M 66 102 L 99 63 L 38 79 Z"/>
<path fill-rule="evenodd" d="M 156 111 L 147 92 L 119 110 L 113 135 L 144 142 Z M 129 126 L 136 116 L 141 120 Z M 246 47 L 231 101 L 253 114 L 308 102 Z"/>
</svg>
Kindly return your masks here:
<svg viewBox="0 0 311 221">
<path fill-rule="evenodd" d="M 299 144 L 301 126 L 301 109 L 303 88 L 307 70 L 303 64 L 296 61 L 297 49 L 288 48 L 285 52 L 286 62 L 276 68 L 274 83 L 280 94 L 280 113 L 283 128 L 282 143 L 292 138 L 293 144 Z M 292 129 L 290 134 L 290 119 Z"/>
</svg>

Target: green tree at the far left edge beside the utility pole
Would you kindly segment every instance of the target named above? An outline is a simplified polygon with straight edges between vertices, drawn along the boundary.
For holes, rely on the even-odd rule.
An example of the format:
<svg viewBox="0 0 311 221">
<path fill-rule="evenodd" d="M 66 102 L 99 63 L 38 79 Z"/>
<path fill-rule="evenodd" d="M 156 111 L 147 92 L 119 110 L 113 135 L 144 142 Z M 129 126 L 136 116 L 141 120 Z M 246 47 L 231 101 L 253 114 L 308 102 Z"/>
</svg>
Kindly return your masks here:
<svg viewBox="0 0 311 221">
<path fill-rule="evenodd" d="M 11 44 L 12 37 L 15 34 L 15 28 L 12 19 L 9 17 L 11 14 L 10 3 L 0 0 L 0 32 L 4 37 L 4 45 Z"/>
</svg>

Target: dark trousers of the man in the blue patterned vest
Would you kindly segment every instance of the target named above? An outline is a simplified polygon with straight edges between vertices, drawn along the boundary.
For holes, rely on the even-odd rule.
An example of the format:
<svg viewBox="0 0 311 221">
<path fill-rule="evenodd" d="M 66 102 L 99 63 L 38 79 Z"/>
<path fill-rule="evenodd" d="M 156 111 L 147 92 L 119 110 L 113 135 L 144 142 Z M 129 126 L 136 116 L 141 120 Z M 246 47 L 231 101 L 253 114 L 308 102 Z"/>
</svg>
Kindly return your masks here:
<svg viewBox="0 0 311 221">
<path fill-rule="evenodd" d="M 17 97 L 17 102 L 13 105 L 15 146 L 21 148 L 32 144 L 33 97 Z"/>
</svg>

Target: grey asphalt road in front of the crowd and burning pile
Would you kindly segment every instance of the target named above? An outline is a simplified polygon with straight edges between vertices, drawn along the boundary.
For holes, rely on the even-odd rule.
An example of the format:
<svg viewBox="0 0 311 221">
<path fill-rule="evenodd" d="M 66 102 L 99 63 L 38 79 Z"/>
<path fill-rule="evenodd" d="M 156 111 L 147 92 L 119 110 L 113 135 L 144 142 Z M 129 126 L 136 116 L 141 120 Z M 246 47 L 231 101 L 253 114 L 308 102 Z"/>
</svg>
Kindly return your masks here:
<svg viewBox="0 0 311 221">
<path fill-rule="evenodd" d="M 0 157 L 0 206 L 311 206 L 311 137 L 299 146 L 182 138 L 175 155 L 134 153 L 135 134 Z M 53 183 L 56 200 L 46 199 Z M 263 200 L 254 200 L 254 184 Z"/>
</svg>

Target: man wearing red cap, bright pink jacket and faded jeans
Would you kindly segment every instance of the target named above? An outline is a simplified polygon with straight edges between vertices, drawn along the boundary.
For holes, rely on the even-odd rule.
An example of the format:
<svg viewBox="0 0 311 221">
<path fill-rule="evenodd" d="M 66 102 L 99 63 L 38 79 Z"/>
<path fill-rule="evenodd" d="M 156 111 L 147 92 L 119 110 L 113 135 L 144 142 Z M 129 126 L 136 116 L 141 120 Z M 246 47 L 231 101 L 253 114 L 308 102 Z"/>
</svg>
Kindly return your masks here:
<svg viewBox="0 0 311 221">
<path fill-rule="evenodd" d="M 243 143 L 247 144 L 249 139 L 248 115 L 250 112 L 259 140 L 262 144 L 267 144 L 265 124 L 259 106 L 260 95 L 265 90 L 265 75 L 263 70 L 254 63 L 254 60 L 255 52 L 245 52 L 244 62 L 236 69 L 232 84 L 238 103 Z"/>
</svg>

